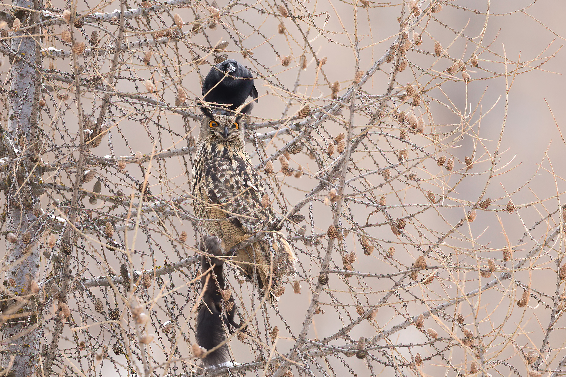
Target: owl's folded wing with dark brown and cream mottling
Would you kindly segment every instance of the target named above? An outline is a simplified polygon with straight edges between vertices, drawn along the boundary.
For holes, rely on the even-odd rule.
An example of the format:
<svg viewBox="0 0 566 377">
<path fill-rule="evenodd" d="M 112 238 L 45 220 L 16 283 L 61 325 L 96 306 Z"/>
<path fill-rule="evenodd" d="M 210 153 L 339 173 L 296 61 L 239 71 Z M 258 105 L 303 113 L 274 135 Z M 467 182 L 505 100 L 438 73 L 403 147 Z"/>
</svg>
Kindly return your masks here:
<svg viewBox="0 0 566 377">
<path fill-rule="evenodd" d="M 231 164 L 210 164 L 203 178 L 208 200 L 226 211 L 226 218 L 247 234 L 264 229 L 275 216 L 271 205 L 263 207 L 264 181 L 251 164 L 235 158 Z"/>
</svg>

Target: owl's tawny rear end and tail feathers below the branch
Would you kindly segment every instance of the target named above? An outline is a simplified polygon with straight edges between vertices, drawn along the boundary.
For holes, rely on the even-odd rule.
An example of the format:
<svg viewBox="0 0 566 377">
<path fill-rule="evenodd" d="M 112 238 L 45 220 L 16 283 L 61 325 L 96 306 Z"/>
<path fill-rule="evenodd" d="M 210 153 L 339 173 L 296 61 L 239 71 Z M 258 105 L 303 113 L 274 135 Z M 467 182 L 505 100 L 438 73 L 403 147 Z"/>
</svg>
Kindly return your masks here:
<svg viewBox="0 0 566 377">
<path fill-rule="evenodd" d="M 273 255 L 273 257 L 270 257 Z M 291 246 L 280 233 L 271 233 L 264 239 L 241 249 L 233 261 L 242 268 L 246 278 L 254 280 L 260 292 L 267 291 L 267 301 L 277 305 L 280 294 L 281 279 L 285 275 L 294 274 L 294 263 L 297 257 Z M 238 263 L 240 262 L 240 263 Z"/>
</svg>

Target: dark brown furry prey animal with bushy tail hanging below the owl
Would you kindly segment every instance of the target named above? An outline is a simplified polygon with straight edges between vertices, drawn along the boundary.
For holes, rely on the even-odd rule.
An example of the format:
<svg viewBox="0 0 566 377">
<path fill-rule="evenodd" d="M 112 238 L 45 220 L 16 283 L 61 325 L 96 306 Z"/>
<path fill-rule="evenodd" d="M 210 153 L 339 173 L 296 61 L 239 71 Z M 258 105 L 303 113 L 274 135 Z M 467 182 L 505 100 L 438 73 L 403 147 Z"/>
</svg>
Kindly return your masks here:
<svg viewBox="0 0 566 377">
<path fill-rule="evenodd" d="M 223 255 L 221 241 L 216 236 L 204 236 L 200 249 L 208 254 Z M 212 270 L 208 271 L 211 263 Z M 236 305 L 232 296 L 230 296 L 228 301 L 224 302 L 224 310 L 222 310 L 223 300 L 221 291 L 225 289 L 226 285 L 224 274 L 222 273 L 223 265 L 224 261 L 221 258 L 211 257 L 210 255 L 202 255 L 200 257 L 200 266 L 202 268 L 200 287 L 204 293 L 202 294 L 202 302 L 199 304 L 198 314 L 196 315 L 196 343 L 207 350 L 215 348 L 226 340 L 226 333 L 222 326 L 223 321 L 230 333 L 234 332 L 233 328 L 237 329 L 242 326 L 234 322 Z M 226 309 L 227 307 L 230 307 L 230 309 Z M 229 361 L 228 344 L 223 344 L 220 348 L 203 358 L 203 366 L 205 368 L 214 368 Z"/>
</svg>

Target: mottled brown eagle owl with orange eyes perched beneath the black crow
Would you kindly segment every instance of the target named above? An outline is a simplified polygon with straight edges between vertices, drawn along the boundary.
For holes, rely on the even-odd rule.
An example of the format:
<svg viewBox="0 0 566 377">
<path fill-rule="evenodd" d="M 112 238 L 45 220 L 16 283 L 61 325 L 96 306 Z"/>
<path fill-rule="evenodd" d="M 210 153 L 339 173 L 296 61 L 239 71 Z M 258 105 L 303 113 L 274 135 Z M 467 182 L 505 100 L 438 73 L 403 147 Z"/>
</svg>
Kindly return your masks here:
<svg viewBox="0 0 566 377">
<path fill-rule="evenodd" d="M 204 228 L 220 237 L 225 250 L 276 220 L 271 203 L 262 204 L 267 187 L 245 148 L 242 117 L 251 105 L 236 116 L 214 114 L 209 107 L 201 107 L 204 116 L 192 177 L 193 205 Z M 233 262 L 247 278 L 257 278 L 258 288 L 269 292 L 268 301 L 274 305 L 280 279 L 293 272 L 295 259 L 284 237 L 271 231 L 240 249 Z"/>
</svg>

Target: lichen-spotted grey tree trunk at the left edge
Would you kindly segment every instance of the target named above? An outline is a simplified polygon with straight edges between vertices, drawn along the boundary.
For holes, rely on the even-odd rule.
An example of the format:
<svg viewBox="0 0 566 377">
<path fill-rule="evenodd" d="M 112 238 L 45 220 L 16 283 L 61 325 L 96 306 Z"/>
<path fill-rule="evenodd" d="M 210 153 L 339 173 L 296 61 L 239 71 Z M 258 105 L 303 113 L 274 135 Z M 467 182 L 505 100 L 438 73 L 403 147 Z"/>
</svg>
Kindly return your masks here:
<svg viewBox="0 0 566 377">
<path fill-rule="evenodd" d="M 22 10 L 37 9 L 40 7 L 38 0 L 14 0 L 13 5 L 16 18 L 22 21 L 22 28 L 38 22 L 40 15 Z M 15 239 L 8 237 L 6 241 L 7 255 L 3 261 L 4 280 L 10 283 L 7 288 L 13 299 L 6 301 L 2 307 L 3 314 L 12 315 L 2 326 L 2 367 L 11 364 L 8 375 L 14 376 L 35 375 L 39 360 L 40 328 L 37 327 L 37 318 L 41 316 L 35 298 L 28 296 L 32 280 L 38 280 L 40 267 L 40 255 L 34 244 L 40 237 L 36 231 L 41 220 L 36 215 L 41 213 L 36 204 L 39 198 L 33 194 L 32 186 L 41 174 L 36 163 L 29 158 L 41 148 L 38 143 L 38 101 L 42 78 L 40 72 L 30 65 L 41 65 L 39 33 L 39 27 L 10 32 L 10 36 L 22 37 L 11 38 L 9 42 L 12 65 L 8 77 L 8 132 L 3 134 L 0 144 L 0 152 L 10 159 L 5 181 L 6 230 L 15 236 Z M 36 36 L 29 36 L 31 34 Z"/>
</svg>

